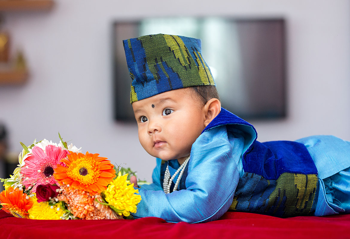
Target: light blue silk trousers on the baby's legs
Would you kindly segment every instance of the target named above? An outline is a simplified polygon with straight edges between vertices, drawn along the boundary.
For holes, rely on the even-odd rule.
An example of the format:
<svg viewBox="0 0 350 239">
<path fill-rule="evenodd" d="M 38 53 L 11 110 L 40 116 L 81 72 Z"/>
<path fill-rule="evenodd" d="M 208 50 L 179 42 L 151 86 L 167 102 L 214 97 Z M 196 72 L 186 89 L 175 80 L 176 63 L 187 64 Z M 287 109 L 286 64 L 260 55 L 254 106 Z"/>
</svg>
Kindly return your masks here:
<svg viewBox="0 0 350 239">
<path fill-rule="evenodd" d="M 315 216 L 350 213 L 350 142 L 325 135 L 297 141 L 307 147 L 318 171 Z"/>
</svg>

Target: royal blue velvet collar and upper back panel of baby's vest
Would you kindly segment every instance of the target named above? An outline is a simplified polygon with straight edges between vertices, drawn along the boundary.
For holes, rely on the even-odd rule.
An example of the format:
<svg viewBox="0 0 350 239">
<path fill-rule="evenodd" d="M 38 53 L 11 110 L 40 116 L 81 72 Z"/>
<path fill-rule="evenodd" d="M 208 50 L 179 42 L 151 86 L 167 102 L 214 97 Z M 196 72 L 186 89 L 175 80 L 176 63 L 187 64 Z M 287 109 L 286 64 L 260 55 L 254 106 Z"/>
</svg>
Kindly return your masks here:
<svg viewBox="0 0 350 239">
<path fill-rule="evenodd" d="M 243 131 L 245 138 L 242 153 L 244 172 L 255 173 L 271 180 L 277 179 L 285 172 L 317 174 L 314 161 L 303 144 L 292 141 L 260 143 L 256 140 L 257 131 L 253 125 L 224 108 L 221 108 L 221 112 L 205 127 L 203 132 L 221 125 L 226 125 L 228 132 L 233 132 L 234 128 Z"/>
</svg>

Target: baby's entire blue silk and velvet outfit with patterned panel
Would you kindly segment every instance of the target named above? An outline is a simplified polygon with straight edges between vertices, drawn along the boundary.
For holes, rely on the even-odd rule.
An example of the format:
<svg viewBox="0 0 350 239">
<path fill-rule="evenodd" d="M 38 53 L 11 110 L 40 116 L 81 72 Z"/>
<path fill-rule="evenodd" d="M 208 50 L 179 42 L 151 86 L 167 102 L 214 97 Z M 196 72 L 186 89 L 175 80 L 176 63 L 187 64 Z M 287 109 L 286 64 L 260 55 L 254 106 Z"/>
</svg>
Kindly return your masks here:
<svg viewBox="0 0 350 239">
<path fill-rule="evenodd" d="M 222 108 L 192 145 L 177 190 L 165 194 L 162 185 L 166 166 L 173 175 L 179 162 L 156 159 L 153 183 L 139 188 L 142 200 L 132 215 L 198 223 L 226 211 L 278 217 L 350 212 L 350 142 L 256 139 L 251 124 Z"/>
</svg>

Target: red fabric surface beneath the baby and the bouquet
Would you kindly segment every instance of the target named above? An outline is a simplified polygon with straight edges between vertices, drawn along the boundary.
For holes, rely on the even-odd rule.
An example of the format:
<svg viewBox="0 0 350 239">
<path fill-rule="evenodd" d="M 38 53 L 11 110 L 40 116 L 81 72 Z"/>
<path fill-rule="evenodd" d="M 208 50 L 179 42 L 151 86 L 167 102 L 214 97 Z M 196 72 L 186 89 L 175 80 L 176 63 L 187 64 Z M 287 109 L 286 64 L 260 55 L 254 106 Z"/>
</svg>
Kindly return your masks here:
<svg viewBox="0 0 350 239">
<path fill-rule="evenodd" d="M 226 212 L 214 222 L 167 223 L 137 220 L 31 220 L 0 210 L 0 238 L 350 238 L 350 215 L 277 218 Z"/>
</svg>

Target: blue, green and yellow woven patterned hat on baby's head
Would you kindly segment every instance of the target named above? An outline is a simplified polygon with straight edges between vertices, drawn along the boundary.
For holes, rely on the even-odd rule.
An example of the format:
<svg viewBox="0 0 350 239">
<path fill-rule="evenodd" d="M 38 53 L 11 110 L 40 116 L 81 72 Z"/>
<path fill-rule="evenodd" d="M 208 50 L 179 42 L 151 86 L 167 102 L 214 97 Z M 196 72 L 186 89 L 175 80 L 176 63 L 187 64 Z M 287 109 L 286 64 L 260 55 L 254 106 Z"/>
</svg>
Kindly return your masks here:
<svg viewBox="0 0 350 239">
<path fill-rule="evenodd" d="M 123 41 L 132 79 L 130 103 L 169 90 L 215 86 L 202 57 L 201 40 L 156 34 Z"/>
</svg>

